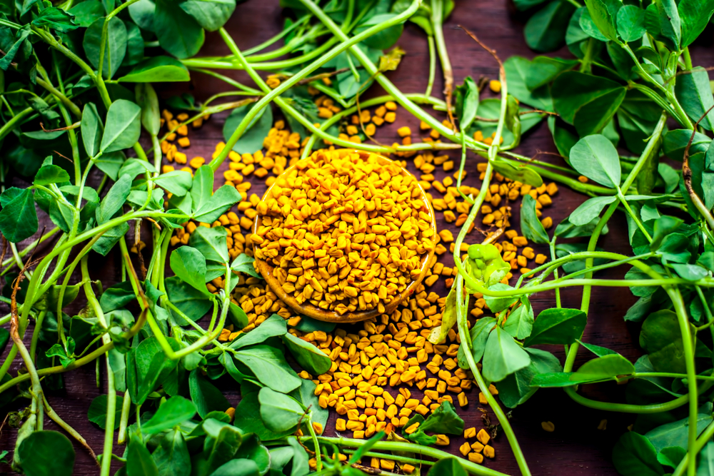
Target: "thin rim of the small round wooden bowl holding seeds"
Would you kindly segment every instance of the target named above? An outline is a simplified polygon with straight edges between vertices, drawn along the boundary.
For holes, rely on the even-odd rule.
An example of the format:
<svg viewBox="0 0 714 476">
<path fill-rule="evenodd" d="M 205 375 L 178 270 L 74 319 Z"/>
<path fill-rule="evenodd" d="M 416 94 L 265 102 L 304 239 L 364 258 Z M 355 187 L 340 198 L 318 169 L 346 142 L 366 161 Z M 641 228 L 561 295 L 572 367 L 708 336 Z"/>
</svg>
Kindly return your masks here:
<svg viewBox="0 0 714 476">
<path fill-rule="evenodd" d="M 401 168 L 403 175 L 408 175 L 412 176 L 413 174 L 409 171 L 406 170 L 406 168 L 403 168 L 399 166 L 397 163 L 394 161 L 389 160 L 386 157 L 383 156 L 378 156 L 377 154 L 373 153 L 368 153 L 365 151 L 350 151 L 350 152 L 356 152 L 360 155 L 361 158 L 367 158 L 370 155 L 376 156 L 378 160 L 380 160 L 382 163 L 392 163 L 393 165 L 398 166 Z M 290 174 L 296 166 L 291 166 L 285 169 L 283 173 L 281 173 L 280 177 L 286 177 L 288 174 Z M 277 178 L 276 178 L 276 183 L 277 183 Z M 433 228 L 434 233 L 436 234 L 436 220 L 434 216 L 434 211 L 433 208 L 431 208 L 431 203 L 429 203 L 428 198 L 426 198 L 426 192 L 424 191 L 423 188 L 421 188 L 421 185 L 419 185 L 418 181 L 415 178 L 414 183 L 416 183 L 416 186 L 418 186 L 419 191 L 421 192 L 421 200 L 423 203 L 426 205 L 426 208 L 428 210 L 429 216 L 431 217 L 431 228 Z M 273 183 L 274 186 L 274 183 Z M 266 196 L 268 196 L 268 193 L 271 192 L 271 189 L 273 186 L 268 187 L 268 190 L 266 193 L 263 195 L 263 200 L 265 200 Z M 253 222 L 253 233 L 257 233 L 258 231 L 258 223 L 261 221 L 262 216 L 258 214 L 256 216 L 255 221 Z M 397 308 L 398 305 L 400 305 L 403 300 L 408 298 L 408 296 L 412 295 L 414 291 L 416 290 L 416 287 L 421 283 L 423 280 L 424 276 L 426 275 L 427 271 L 427 266 L 429 261 L 431 260 L 431 257 L 434 255 L 434 250 L 429 251 L 426 253 L 426 255 L 423 256 L 421 260 L 421 273 L 419 273 L 419 277 L 416 280 L 413 280 L 396 298 L 393 298 L 388 305 L 384 306 L 384 313 L 390 314 L 392 313 L 393 310 Z M 331 310 L 324 310 L 321 308 L 318 308 L 316 305 L 312 305 L 311 303 L 303 303 L 300 304 L 296 300 L 296 298 L 293 297 L 293 295 L 288 295 L 288 293 L 283 290 L 281 287 L 280 283 L 278 283 L 277 278 L 275 275 L 273 275 L 273 266 L 268 264 L 265 260 L 260 260 L 256 258 L 256 265 L 257 265 L 257 270 L 258 273 L 261 273 L 263 275 L 263 278 L 268 282 L 268 285 L 270 286 L 271 290 L 273 293 L 275 293 L 278 298 L 280 298 L 283 303 L 286 303 L 289 305 L 296 313 L 301 314 L 301 315 L 307 315 L 308 317 L 317 319 L 317 320 L 324 320 L 330 323 L 356 323 L 360 320 L 366 320 L 369 318 L 376 317 L 377 315 L 381 315 L 382 313 L 379 312 L 377 308 L 371 309 L 371 310 L 364 310 L 364 311 L 357 311 L 354 313 L 345 313 L 345 314 L 339 314 L 336 313 L 335 311 Z"/>
</svg>

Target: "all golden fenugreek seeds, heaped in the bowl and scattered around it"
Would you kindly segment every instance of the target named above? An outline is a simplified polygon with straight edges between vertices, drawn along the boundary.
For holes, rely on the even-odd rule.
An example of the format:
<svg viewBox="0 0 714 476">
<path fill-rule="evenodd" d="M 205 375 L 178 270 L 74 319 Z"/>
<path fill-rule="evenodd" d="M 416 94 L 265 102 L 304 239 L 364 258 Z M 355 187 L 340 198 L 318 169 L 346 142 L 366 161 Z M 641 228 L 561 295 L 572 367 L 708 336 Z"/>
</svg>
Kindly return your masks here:
<svg viewBox="0 0 714 476">
<path fill-rule="evenodd" d="M 323 116 L 340 111 L 328 98 L 321 96 L 315 102 Z M 396 109 L 391 102 L 374 111 L 364 109 L 361 117 L 351 116 L 343 124 L 341 138 L 360 142 L 360 127 L 372 136 L 376 126 L 395 121 Z M 187 116 L 181 114 L 174 119 L 169 111 L 164 111 L 163 116 L 169 130 L 177 130 L 178 146 L 187 148 L 188 130 L 180 123 Z M 201 127 L 201 123 L 193 123 L 193 127 Z M 438 133 L 426 124 L 421 124 L 419 131 L 426 135 L 422 141 L 438 142 Z M 403 144 L 411 143 L 411 128 L 398 128 L 397 133 Z M 476 136 L 481 136 L 481 132 L 477 131 Z M 176 134 L 170 134 L 161 144 L 169 162 L 164 165 L 164 172 L 171 171 L 174 162 L 179 166 L 188 163 L 192 168 L 206 162 L 201 157 L 189 159 L 185 152 L 177 151 L 172 143 L 175 139 Z M 298 302 L 337 313 L 383 309 L 380 306 L 418 276 L 421 258 L 433 249 L 435 253 L 427 263 L 423 282 L 391 313 L 354 325 L 339 325 L 330 332 L 303 332 L 294 328 L 299 327 L 303 318 L 283 303 L 264 280 L 240 275 L 233 300 L 246 312 L 249 324 L 243 329 L 228 326 L 219 340 L 233 340 L 273 314 L 285 318 L 291 334 L 316 345 L 331 358 L 332 366 L 323 375 L 309 375 L 304 370 L 300 375 L 316 383 L 315 394 L 321 407 L 337 413 L 335 430 L 345 436 L 366 438 L 380 430 L 390 433 L 395 429 L 409 434 L 418 427 L 418 423 L 405 427 L 413 413 L 426 416 L 445 400 L 459 407 L 473 404 L 474 400 L 487 405 L 484 395 L 471 396 L 472 375 L 458 367 L 460 340 L 455 330 L 448 332 L 446 342 L 441 345 L 427 340 L 431 330 L 441 325 L 446 301 L 446 293 L 436 292 L 443 288 L 438 280 L 445 278 L 446 289 L 450 288 L 456 268 L 449 262 L 451 253 L 447 253 L 453 252 L 451 231 L 443 228 L 436 233 L 428 206 L 419 200 L 423 189 L 433 210 L 443 213 L 446 223 L 461 226 L 471 206 L 458 197 L 461 193 L 476 194 L 478 189 L 466 185 L 461 190 L 456 188 L 458 171 L 452 172 L 454 161 L 448 155 L 427 151 L 401 153 L 397 157 L 401 166 L 416 168 L 420 189 L 411 176 L 401 173 L 401 167 L 392 169 L 393 166 L 385 166 L 367 153 L 330 147 L 315 151 L 298 163 L 306 143 L 307 138 L 288 131 L 283 121 L 276 121 L 263 142 L 264 152 L 231 151 L 229 168 L 223 177 L 242 193 L 243 201 L 236 211 L 226 213 L 214 223 L 186 223 L 172 244 L 188 243 L 188 237 L 198 226 L 223 226 L 228 231 L 232 258 L 243 252 L 249 255 L 255 252 L 256 258 L 268 260 L 274 266 L 286 294 Z M 223 146 L 218 143 L 214 154 Z M 293 165 L 296 167 L 288 177 L 277 178 Z M 182 169 L 191 171 L 191 167 Z M 448 174 L 441 181 L 435 176 L 437 167 Z M 486 163 L 478 166 L 481 179 L 485 170 Z M 256 193 L 248 196 L 251 189 L 248 176 L 265 182 L 269 188 L 266 196 L 261 198 Z M 466 178 L 466 172 L 461 178 Z M 498 173 L 493 179 L 486 203 L 481 207 L 483 229 L 472 226 L 467 241 L 480 243 L 489 237 L 496 238 L 493 243 L 511 264 L 512 273 L 503 279 L 508 282 L 513 273 L 525 273 L 532 263 L 540 265 L 547 259 L 536 254 L 528 246 L 528 240 L 510 228 L 511 208 L 518 206 L 519 198 L 530 194 L 541 223 L 550 228 L 552 220 L 541 213 L 551 205 L 558 187 L 549 183 L 533 188 Z M 258 233 L 253 234 L 256 216 Z M 468 246 L 464 244 L 462 248 L 461 252 L 466 253 Z M 216 292 L 222 286 L 221 278 L 216 278 L 208 289 Z M 474 297 L 471 317 L 475 320 L 488 308 L 483 296 Z M 493 385 L 489 390 L 498 394 Z M 315 429 L 323 432 L 319 425 Z M 493 436 L 493 430 L 468 427 L 458 450 L 473 462 L 483 462 L 484 457 L 495 457 L 495 450 L 489 445 Z M 438 435 L 436 444 L 449 445 L 449 437 Z M 394 467 L 393 461 L 378 458 L 369 463 L 382 470 Z M 413 470 L 409 466 L 402 469 Z"/>
</svg>

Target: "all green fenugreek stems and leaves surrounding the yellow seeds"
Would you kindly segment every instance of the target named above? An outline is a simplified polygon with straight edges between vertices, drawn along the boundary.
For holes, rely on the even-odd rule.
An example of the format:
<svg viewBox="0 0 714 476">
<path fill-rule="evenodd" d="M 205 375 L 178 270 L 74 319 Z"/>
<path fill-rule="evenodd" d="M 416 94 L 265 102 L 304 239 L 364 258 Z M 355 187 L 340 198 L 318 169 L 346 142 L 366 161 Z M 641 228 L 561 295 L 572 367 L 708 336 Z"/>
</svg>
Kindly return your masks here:
<svg viewBox="0 0 714 476">
<path fill-rule="evenodd" d="M 524 9 L 538 3 L 516 1 Z M 169 252 L 171 238 L 182 223 L 212 223 L 241 201 L 234 186 L 214 192 L 213 174 L 231 151 L 261 148 L 274 103 L 292 131 L 310 136 L 303 157 L 331 143 L 377 153 L 456 149 L 461 171 L 473 156 L 486 159 L 481 193 L 463 197 L 471 213 L 454 248 L 458 276 L 441 328 L 430 339 L 439 343 L 457 326 L 458 363 L 486 395 L 523 475 L 531 473 L 508 418 L 488 391 L 492 382 L 499 383 L 507 407 L 523 404 L 538 388 L 559 387 L 583 405 L 640 414 L 634 431 L 613 452 L 623 475 L 710 474 L 714 159 L 707 133 L 714 128 L 709 113 L 714 98 L 707 73 L 693 67 L 688 46 L 708 24 L 714 2 L 660 0 L 646 9 L 616 0 L 585 3 L 553 1 L 526 26 L 529 46 L 547 50 L 565 41 L 576 59 L 514 57 L 501 64 L 488 50 L 499 64 L 501 98 L 481 101 L 471 78 L 453 87 L 442 33 L 453 9 L 449 0 L 341 0 L 323 6 L 284 1 L 291 19 L 281 34 L 246 51 L 223 29 L 236 9 L 233 0 L 0 2 L 0 178 L 13 168 L 31 181 L 0 196 L 0 232 L 7 243 L 0 258 L 6 281 L 1 299 L 10 308 L 0 319 L 9 324 L 9 330 L 0 328 L 0 343 L 12 341 L 0 366 L 0 402 L 29 400 L 16 415 L 14 467 L 31 476 L 73 474 L 72 444 L 59 432 L 43 430 L 45 417 L 86 442 L 54 412 L 45 390 L 60 388 L 62 373 L 101 359 L 107 393 L 92 403 L 89 415 L 106 431 L 101 475 L 109 475 L 113 459 L 129 476 L 304 475 L 311 472 L 311 459 L 315 474 L 358 475 L 361 458 L 374 455 L 431 467 L 430 475 L 501 475 L 429 446 L 436 437 L 427 435 L 428 429 L 463 430 L 448 402 L 426 420 L 413 417 L 410 423 L 420 422 L 421 430 L 408 440 L 395 435 L 385 440 L 383 432 L 370 440 L 319 436 L 315 428 L 325 427 L 328 412 L 318 405 L 315 384 L 288 365 L 285 349 L 313 374 L 322 373 L 329 358 L 311 345 L 291 344 L 278 315 L 230 343 L 218 341 L 228 323 L 248 325 L 231 291 L 239 275 L 258 277 L 252 259 L 228 250 L 222 227 L 198 227 L 186 245 Z M 431 53 L 426 93 L 403 93 L 383 74 L 398 66 L 401 51 L 388 49 L 408 20 L 426 32 Z M 206 30 L 219 32 L 228 56 L 195 57 Z M 279 41 L 284 46 L 266 51 Z M 432 96 L 437 59 L 443 100 Z M 256 88 L 218 72 L 223 69 L 246 71 Z M 234 89 L 204 103 L 188 95 L 172 98 L 171 107 L 192 111 L 193 117 L 167 134 L 230 110 L 226 145 L 193 176 L 161 173 L 165 136 L 159 136 L 159 99 L 151 83 L 188 81 L 193 72 Z M 266 81 L 261 72 L 271 78 Z M 386 95 L 360 101 L 372 83 Z M 306 93 L 308 85 L 343 110 L 321 116 Z M 216 103 L 231 96 L 242 98 Z M 387 101 L 399 103 L 443 141 L 383 146 L 338 135 L 341 119 Z M 422 106 L 446 112 L 450 125 Z M 566 166 L 513 152 L 523 133 L 546 117 Z M 678 128 L 668 130 L 668 119 Z M 139 143 L 142 128 L 146 141 Z M 629 153 L 618 153 L 616 146 Z M 681 171 L 660 161 L 662 156 L 682 161 Z M 92 188 L 88 178 L 96 170 L 101 181 Z M 548 178 L 592 197 L 552 238 L 538 220 L 533 198 L 524 198 L 523 235 L 547 245 L 551 260 L 514 286 L 501 282 L 511 266 L 491 243 L 473 243 L 461 256 L 494 172 L 535 187 Z M 36 206 L 56 228 L 38 229 Z M 628 217 L 631 256 L 596 248 L 618 210 Z M 146 244 L 151 258 L 138 266 L 130 248 L 141 250 L 144 243 L 127 243 L 131 226 L 135 237 L 142 227 L 151 234 Z M 38 237 L 17 248 L 32 236 Z M 587 243 L 563 241 L 583 237 L 589 237 Z M 56 240 L 54 247 L 36 253 L 49 239 Z M 88 260 L 117 247 L 122 281 L 104 288 L 89 275 Z M 616 266 L 630 267 L 625 279 L 593 278 Z M 167 268 L 173 276 L 166 275 Z M 73 276 L 79 282 L 69 285 Z M 206 283 L 216 278 L 223 287 L 211 293 Z M 567 286 L 583 288 L 580 309 L 561 308 L 558 290 Z M 640 345 L 647 355 L 636 363 L 581 340 L 593 286 L 627 286 L 638 296 L 624 316 L 643 323 Z M 553 289 L 555 307 L 536 318 L 530 296 Z M 86 303 L 73 305 L 80 290 Z M 469 323 L 473 293 L 483 295 L 493 315 Z M 139 312 L 132 312 L 137 305 Z M 68 315 L 68 308 L 81 310 Z M 195 322 L 204 315 L 210 316 L 207 328 Z M 564 365 L 533 348 L 538 344 L 565 345 Z M 576 370 L 580 345 L 595 358 Z M 21 371 L 12 377 L 16 362 Z M 225 411 L 230 404 L 211 383 L 226 374 L 241 386 L 234 420 Z M 630 401 L 598 402 L 578 393 L 578 385 L 608 380 L 629 380 Z M 680 414 L 680 408 L 688 411 Z M 664 414 L 658 423 L 648 416 L 655 413 Z M 121 456 L 115 454 L 121 452 L 114 447 L 116 430 L 119 443 L 126 443 Z"/>
</svg>

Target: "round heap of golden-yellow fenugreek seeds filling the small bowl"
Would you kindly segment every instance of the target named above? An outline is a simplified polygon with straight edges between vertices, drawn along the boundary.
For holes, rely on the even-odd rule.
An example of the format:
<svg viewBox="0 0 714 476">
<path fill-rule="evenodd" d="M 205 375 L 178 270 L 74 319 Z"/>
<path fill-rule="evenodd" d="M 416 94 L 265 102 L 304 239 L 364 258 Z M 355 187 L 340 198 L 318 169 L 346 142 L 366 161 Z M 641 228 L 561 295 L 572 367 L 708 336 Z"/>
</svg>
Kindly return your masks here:
<svg viewBox="0 0 714 476">
<path fill-rule="evenodd" d="M 340 315 L 385 306 L 436 246 L 416 178 L 371 153 L 316 151 L 258 203 L 255 257 L 298 303 Z"/>
</svg>

